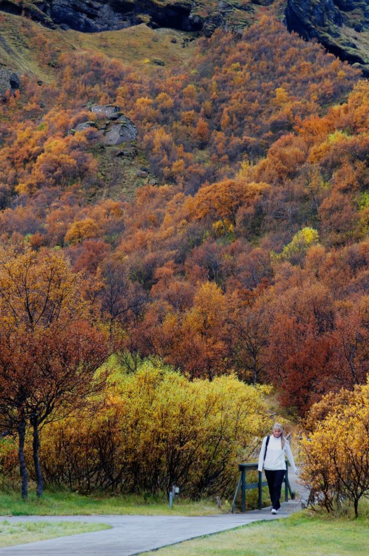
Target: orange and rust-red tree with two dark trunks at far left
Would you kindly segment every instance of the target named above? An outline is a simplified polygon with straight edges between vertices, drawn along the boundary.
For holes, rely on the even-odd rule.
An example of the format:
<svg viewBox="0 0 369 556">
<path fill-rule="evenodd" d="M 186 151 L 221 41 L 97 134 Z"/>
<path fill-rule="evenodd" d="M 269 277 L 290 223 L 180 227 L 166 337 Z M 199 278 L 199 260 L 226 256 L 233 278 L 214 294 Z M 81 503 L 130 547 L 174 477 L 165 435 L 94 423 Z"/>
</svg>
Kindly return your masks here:
<svg viewBox="0 0 369 556">
<path fill-rule="evenodd" d="M 23 498 L 28 492 L 24 440 L 32 426 L 40 497 L 39 428 L 103 388 L 105 374 L 95 373 L 111 345 L 90 322 L 80 276 L 58 255 L 1 249 L 0 311 L 0 423 L 18 435 Z"/>
</svg>

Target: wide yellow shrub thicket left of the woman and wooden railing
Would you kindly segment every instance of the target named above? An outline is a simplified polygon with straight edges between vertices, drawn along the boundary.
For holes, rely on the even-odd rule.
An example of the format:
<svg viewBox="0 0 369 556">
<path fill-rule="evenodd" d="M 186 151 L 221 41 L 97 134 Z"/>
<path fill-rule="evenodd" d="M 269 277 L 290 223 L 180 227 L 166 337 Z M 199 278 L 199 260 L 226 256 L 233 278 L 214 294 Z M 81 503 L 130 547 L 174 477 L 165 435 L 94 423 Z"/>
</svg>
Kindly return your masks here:
<svg viewBox="0 0 369 556">
<path fill-rule="evenodd" d="M 269 426 L 262 389 L 234 376 L 190 382 L 146 363 L 93 418 L 45 427 L 41 459 L 46 480 L 70 488 L 159 492 L 176 483 L 193 497 L 224 495 Z"/>
</svg>

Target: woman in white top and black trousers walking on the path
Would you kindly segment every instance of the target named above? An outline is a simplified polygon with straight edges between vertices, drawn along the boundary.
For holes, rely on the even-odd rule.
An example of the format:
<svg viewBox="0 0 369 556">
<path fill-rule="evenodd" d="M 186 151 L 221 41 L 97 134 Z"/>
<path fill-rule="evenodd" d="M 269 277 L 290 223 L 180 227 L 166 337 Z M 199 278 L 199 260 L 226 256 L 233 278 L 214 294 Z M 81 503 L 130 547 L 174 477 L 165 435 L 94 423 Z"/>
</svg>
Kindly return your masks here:
<svg viewBox="0 0 369 556">
<path fill-rule="evenodd" d="M 296 473 L 296 465 L 288 440 L 283 434 L 283 427 L 279 423 L 274 423 L 273 435 L 265 436 L 263 439 L 258 465 L 259 471 L 262 471 L 264 467 L 270 500 L 272 501 L 272 514 L 277 514 L 279 508 L 281 508 L 279 499 L 281 498 L 282 483 L 286 473 L 286 455 L 294 473 Z"/>
</svg>

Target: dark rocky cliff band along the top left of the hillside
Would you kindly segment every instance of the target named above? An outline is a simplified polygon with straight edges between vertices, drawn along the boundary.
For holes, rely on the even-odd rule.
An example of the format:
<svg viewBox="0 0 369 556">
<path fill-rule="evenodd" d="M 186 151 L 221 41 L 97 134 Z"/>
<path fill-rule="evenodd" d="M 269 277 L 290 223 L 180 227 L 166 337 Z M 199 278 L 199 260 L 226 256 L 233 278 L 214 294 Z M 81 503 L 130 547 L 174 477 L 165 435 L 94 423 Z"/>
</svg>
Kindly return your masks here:
<svg viewBox="0 0 369 556">
<path fill-rule="evenodd" d="M 82 32 L 147 23 L 209 35 L 217 27 L 247 26 L 253 7 L 249 0 L 0 0 L 0 9 Z"/>
</svg>

